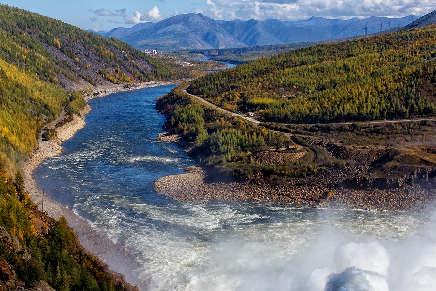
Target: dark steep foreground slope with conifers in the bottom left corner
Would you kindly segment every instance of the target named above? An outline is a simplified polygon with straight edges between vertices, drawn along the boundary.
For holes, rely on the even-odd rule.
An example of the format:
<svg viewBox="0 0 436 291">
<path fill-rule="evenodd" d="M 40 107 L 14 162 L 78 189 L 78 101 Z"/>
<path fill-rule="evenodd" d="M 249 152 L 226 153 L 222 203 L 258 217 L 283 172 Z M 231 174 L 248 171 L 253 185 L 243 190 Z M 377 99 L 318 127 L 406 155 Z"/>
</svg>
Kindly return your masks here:
<svg viewBox="0 0 436 291">
<path fill-rule="evenodd" d="M 1 290 L 44 280 L 58 291 L 138 291 L 83 249 L 64 217 L 55 221 L 38 210 L 19 171 L 6 176 L 0 160 Z"/>
</svg>

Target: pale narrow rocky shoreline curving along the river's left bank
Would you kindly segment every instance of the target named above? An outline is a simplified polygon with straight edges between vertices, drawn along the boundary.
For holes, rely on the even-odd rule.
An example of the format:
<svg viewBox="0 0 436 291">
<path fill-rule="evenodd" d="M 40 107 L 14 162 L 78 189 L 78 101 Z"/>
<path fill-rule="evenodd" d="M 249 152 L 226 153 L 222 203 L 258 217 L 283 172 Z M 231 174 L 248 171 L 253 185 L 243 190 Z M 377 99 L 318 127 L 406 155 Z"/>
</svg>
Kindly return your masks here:
<svg viewBox="0 0 436 291">
<path fill-rule="evenodd" d="M 90 100 L 96 97 L 103 97 L 115 92 L 136 90 L 141 88 L 156 87 L 169 84 L 177 84 L 178 81 L 166 81 L 166 82 L 145 82 L 135 84 L 125 88 L 124 85 L 103 86 L 94 88 L 94 93 L 99 94 L 89 95 L 85 97 L 85 100 Z M 91 107 L 86 105 L 80 112 L 80 116 L 74 115 L 73 120 L 66 123 L 61 128 L 57 128 L 57 136 L 49 141 L 38 141 L 38 149 L 34 151 L 31 157 L 26 161 L 22 169 L 22 174 L 26 183 L 26 190 L 30 193 L 31 200 L 39 204 L 42 201 L 43 192 L 37 186 L 36 181 L 32 178 L 33 170 L 45 159 L 50 157 L 59 156 L 63 149 L 61 144 L 74 136 L 74 134 L 82 129 L 85 125 L 85 115 L 91 111 Z M 98 233 L 89 224 L 88 221 L 80 218 L 73 210 L 57 203 L 45 195 L 44 197 L 44 211 L 48 212 L 48 215 L 58 220 L 62 215 L 68 221 L 70 227 L 72 227 L 81 244 L 88 251 L 99 257 L 102 261 L 108 264 L 109 268 L 116 270 L 117 272 L 125 274 L 126 281 L 132 285 L 137 285 L 140 290 L 147 290 L 147 283 L 138 279 L 139 274 L 135 270 L 140 269 L 140 265 L 131 254 L 127 253 L 123 246 L 112 242 L 108 236 Z"/>
</svg>

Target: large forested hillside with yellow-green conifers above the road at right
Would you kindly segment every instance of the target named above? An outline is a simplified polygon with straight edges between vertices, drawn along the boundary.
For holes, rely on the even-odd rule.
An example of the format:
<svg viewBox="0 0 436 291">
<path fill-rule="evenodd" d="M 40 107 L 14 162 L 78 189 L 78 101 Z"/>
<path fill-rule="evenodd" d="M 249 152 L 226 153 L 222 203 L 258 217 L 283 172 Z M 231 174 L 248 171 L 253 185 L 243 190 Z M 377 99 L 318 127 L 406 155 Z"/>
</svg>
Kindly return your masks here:
<svg viewBox="0 0 436 291">
<path fill-rule="evenodd" d="M 436 115 L 436 27 L 281 53 L 192 81 L 188 91 L 265 121 Z"/>
</svg>

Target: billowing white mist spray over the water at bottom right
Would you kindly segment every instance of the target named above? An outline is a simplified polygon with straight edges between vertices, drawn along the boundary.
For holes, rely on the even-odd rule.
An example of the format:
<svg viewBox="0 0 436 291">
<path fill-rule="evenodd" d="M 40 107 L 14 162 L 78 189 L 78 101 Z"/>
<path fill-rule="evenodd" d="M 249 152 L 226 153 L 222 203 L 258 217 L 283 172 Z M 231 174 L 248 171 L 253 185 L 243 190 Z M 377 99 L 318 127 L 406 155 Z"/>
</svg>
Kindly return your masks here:
<svg viewBox="0 0 436 291">
<path fill-rule="evenodd" d="M 366 238 L 339 234 L 326 226 L 311 247 L 287 259 L 281 257 L 280 247 L 264 245 L 253 251 L 240 238 L 238 243 L 226 243 L 228 256 L 220 257 L 226 263 L 214 263 L 233 268 L 234 285 L 223 282 L 220 287 L 227 289 L 222 290 L 435 291 L 435 226 L 436 216 L 419 231 L 395 241 L 372 238 L 374 233 Z M 261 242 L 249 242 L 253 243 Z M 212 286 L 209 290 L 219 290 Z"/>
</svg>

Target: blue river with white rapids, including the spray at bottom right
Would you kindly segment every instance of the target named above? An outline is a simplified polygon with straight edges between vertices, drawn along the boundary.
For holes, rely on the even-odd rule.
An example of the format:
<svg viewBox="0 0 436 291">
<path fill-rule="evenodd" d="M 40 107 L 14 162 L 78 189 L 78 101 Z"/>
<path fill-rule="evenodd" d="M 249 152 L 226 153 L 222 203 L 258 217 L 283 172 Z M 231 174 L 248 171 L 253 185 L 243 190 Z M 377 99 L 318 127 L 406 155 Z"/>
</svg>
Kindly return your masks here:
<svg viewBox="0 0 436 291">
<path fill-rule="evenodd" d="M 433 211 L 184 204 L 156 194 L 155 179 L 194 164 L 156 141 L 164 117 L 154 99 L 172 87 L 89 101 L 84 129 L 33 175 L 135 256 L 142 267 L 134 273 L 150 290 L 436 290 Z"/>
</svg>

